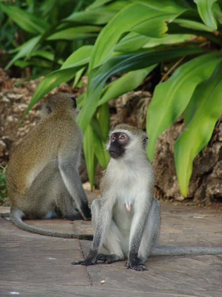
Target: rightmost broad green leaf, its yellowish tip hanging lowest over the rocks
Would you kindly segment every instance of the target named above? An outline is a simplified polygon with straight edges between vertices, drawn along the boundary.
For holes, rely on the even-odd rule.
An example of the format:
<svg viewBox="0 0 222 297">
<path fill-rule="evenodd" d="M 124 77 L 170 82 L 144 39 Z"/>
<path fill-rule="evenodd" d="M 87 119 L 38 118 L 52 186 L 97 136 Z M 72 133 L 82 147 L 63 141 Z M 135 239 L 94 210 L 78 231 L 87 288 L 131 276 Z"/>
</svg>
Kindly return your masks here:
<svg viewBox="0 0 222 297">
<path fill-rule="evenodd" d="M 174 145 L 178 182 L 184 197 L 187 196 L 193 159 L 210 141 L 222 114 L 222 63 L 209 79 L 196 87 L 186 109 L 192 117 Z"/>
</svg>

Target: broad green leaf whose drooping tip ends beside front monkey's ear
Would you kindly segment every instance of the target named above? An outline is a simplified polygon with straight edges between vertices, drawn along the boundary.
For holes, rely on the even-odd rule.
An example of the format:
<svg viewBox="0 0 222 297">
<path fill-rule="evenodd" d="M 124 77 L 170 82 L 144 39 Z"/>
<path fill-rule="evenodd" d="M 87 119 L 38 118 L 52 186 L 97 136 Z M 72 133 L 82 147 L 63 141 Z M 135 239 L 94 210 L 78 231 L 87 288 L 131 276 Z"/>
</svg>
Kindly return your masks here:
<svg viewBox="0 0 222 297">
<path fill-rule="evenodd" d="M 180 66 L 166 82 L 156 86 L 147 112 L 150 160 L 159 135 L 183 113 L 196 86 L 207 79 L 221 61 L 218 52 L 201 55 Z"/>
</svg>

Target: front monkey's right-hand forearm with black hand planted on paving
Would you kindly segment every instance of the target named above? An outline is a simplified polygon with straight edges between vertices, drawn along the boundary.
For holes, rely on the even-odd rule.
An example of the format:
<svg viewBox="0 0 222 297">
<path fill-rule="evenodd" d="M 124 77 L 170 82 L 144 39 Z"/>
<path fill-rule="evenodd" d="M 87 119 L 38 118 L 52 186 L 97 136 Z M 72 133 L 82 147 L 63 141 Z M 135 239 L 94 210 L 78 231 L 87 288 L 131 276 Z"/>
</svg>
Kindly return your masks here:
<svg viewBox="0 0 222 297">
<path fill-rule="evenodd" d="M 138 198 L 138 201 L 140 201 L 140 198 Z M 143 201 L 143 199 L 141 199 L 141 201 Z M 145 203 L 138 204 L 135 205 L 135 213 L 130 229 L 129 255 L 126 267 L 135 270 L 148 270 L 147 266 L 144 265 L 138 257 L 138 251 L 147 224 L 150 205 L 149 203 L 148 205 L 145 205 Z"/>
</svg>

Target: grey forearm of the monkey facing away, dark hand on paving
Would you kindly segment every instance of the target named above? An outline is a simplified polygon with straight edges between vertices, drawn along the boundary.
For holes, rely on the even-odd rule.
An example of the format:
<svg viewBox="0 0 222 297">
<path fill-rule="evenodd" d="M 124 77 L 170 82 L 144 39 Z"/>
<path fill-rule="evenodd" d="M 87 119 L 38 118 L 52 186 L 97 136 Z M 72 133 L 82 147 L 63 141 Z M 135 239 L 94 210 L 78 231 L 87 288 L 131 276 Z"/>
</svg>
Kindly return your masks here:
<svg viewBox="0 0 222 297">
<path fill-rule="evenodd" d="M 88 200 L 82 188 L 82 182 L 78 173 L 75 158 L 62 159 L 59 158 L 59 170 L 62 179 L 73 197 L 81 215 L 85 220 L 91 219 L 91 212 L 88 206 Z"/>
</svg>

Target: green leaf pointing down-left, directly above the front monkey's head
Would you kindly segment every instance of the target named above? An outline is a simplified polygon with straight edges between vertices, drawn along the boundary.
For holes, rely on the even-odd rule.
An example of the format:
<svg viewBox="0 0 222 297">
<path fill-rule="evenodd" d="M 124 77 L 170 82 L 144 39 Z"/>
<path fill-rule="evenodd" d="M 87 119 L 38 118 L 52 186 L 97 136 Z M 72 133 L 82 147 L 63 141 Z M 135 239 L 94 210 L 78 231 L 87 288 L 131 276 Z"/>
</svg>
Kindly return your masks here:
<svg viewBox="0 0 222 297">
<path fill-rule="evenodd" d="M 157 64 L 154 64 L 144 69 L 128 72 L 127 74 L 111 82 L 107 87 L 104 88 L 101 99 L 98 102 L 98 106 L 139 87 L 148 73 L 151 72 L 156 66 Z"/>
</svg>

